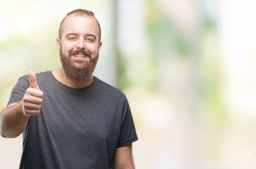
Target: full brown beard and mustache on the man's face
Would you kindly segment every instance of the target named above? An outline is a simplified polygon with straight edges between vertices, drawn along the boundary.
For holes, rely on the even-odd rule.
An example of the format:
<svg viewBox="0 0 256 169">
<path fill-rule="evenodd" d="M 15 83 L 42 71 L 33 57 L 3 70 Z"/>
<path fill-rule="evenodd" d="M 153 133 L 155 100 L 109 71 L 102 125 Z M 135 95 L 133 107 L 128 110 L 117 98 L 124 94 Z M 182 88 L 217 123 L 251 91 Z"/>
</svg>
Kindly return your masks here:
<svg viewBox="0 0 256 169">
<path fill-rule="evenodd" d="M 74 54 L 82 53 L 89 58 L 87 61 L 72 61 L 71 56 Z M 99 54 L 92 58 L 90 51 L 85 51 L 83 49 L 76 51 L 69 51 L 69 57 L 62 54 L 62 47 L 59 50 L 60 60 L 62 62 L 62 68 L 69 79 L 76 80 L 78 82 L 85 82 L 91 79 L 93 71 L 98 62 Z"/>
</svg>

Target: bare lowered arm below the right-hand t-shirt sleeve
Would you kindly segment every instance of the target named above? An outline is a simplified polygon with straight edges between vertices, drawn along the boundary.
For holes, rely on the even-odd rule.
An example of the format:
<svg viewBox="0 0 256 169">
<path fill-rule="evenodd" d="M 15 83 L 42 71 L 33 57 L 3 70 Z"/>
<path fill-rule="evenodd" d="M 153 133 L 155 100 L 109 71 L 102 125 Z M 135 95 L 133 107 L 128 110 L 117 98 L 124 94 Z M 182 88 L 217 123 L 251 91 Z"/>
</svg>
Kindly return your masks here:
<svg viewBox="0 0 256 169">
<path fill-rule="evenodd" d="M 134 169 L 132 159 L 132 144 L 117 148 L 114 157 L 115 169 Z"/>
</svg>

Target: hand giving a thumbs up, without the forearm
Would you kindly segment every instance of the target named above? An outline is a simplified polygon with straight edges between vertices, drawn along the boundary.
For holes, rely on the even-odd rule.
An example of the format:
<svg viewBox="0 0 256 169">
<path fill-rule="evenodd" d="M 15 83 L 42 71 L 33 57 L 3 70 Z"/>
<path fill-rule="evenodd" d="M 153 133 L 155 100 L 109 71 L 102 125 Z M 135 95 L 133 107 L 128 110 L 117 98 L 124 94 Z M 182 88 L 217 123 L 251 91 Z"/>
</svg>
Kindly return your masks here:
<svg viewBox="0 0 256 169">
<path fill-rule="evenodd" d="M 30 117 L 31 115 L 38 115 L 40 113 L 43 93 L 37 85 L 35 73 L 30 71 L 28 77 L 30 87 L 28 87 L 23 96 L 23 113 Z"/>
</svg>

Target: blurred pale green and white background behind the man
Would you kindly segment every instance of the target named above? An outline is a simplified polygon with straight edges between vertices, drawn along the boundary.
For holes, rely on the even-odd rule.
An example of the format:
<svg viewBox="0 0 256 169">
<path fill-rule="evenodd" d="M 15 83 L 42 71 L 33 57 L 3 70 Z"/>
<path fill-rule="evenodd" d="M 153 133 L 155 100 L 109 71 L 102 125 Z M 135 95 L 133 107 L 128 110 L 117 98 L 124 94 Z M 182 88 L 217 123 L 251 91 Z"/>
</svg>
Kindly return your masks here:
<svg viewBox="0 0 256 169">
<path fill-rule="evenodd" d="M 256 1 L 0 1 L 0 108 L 29 70 L 60 68 L 69 11 L 102 27 L 94 75 L 129 99 L 136 168 L 256 168 Z M 22 137 L 0 137 L 0 168 L 18 168 Z"/>
</svg>

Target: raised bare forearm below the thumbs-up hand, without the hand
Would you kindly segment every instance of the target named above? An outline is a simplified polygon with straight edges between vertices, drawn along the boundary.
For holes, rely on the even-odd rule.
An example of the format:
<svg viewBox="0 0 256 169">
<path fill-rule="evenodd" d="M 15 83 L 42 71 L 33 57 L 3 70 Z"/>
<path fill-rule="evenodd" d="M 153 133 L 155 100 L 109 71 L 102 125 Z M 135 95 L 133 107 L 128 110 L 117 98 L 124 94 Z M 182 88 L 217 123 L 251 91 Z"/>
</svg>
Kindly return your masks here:
<svg viewBox="0 0 256 169">
<path fill-rule="evenodd" d="M 0 114 L 0 132 L 2 137 L 18 137 L 28 123 L 29 117 L 23 113 L 22 101 L 4 108 Z"/>
</svg>

